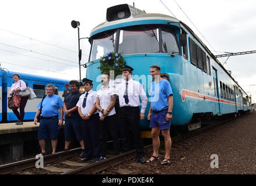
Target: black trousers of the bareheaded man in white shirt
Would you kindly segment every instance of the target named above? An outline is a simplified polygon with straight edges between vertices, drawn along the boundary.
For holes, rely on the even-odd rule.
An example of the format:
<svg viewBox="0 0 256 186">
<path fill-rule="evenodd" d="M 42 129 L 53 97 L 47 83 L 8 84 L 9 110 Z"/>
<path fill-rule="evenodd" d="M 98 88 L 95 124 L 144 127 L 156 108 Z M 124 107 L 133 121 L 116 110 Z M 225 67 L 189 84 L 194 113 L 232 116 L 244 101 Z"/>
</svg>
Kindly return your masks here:
<svg viewBox="0 0 256 186">
<path fill-rule="evenodd" d="M 114 141 L 115 154 L 120 153 L 117 127 L 118 127 L 117 115 L 107 116 L 103 121 L 100 121 L 101 156 L 104 156 L 104 157 L 106 156 L 108 131 L 110 131 L 111 138 Z"/>
</svg>

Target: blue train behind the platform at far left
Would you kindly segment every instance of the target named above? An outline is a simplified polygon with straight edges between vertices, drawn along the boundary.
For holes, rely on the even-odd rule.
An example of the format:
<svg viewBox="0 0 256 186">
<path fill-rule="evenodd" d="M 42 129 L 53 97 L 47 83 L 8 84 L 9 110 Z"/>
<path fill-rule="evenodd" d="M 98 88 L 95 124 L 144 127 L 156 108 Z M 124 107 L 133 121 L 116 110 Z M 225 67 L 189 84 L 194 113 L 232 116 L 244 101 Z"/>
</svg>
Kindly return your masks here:
<svg viewBox="0 0 256 186">
<path fill-rule="evenodd" d="M 8 108 L 8 97 L 10 87 L 13 84 L 12 74 L 17 73 L 13 71 L 5 71 L 0 69 L 0 121 L 9 122 L 17 121 L 15 114 Z M 34 120 L 36 115 L 36 108 L 41 98 L 46 94 L 45 86 L 47 84 L 54 84 L 56 87 L 55 94 L 61 96 L 65 89 L 65 83 L 69 83 L 69 80 L 61 80 L 57 78 L 49 78 L 43 76 L 36 76 L 31 74 L 18 73 L 20 79 L 23 80 L 27 86 L 31 87 L 36 98 L 28 100 L 25 108 L 24 120 Z"/>
</svg>

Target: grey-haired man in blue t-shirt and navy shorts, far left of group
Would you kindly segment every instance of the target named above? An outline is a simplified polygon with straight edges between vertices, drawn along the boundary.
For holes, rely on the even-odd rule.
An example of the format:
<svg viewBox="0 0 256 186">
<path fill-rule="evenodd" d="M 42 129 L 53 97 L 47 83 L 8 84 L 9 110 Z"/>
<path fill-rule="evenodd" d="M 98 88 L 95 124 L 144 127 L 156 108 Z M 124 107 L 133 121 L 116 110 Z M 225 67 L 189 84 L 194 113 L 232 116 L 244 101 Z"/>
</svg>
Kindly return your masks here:
<svg viewBox="0 0 256 186">
<path fill-rule="evenodd" d="M 54 91 L 54 85 L 46 85 L 47 96 L 41 99 L 37 106 L 36 116 L 34 117 L 34 124 L 36 125 L 38 115 L 41 116 L 37 135 L 41 155 L 46 155 L 45 139 L 48 138 L 48 135 L 51 138 L 52 153 L 55 153 L 58 143 L 59 126 L 63 125 L 63 101 L 60 96 L 54 94 Z M 61 120 L 58 119 L 58 112 L 61 114 Z"/>
</svg>

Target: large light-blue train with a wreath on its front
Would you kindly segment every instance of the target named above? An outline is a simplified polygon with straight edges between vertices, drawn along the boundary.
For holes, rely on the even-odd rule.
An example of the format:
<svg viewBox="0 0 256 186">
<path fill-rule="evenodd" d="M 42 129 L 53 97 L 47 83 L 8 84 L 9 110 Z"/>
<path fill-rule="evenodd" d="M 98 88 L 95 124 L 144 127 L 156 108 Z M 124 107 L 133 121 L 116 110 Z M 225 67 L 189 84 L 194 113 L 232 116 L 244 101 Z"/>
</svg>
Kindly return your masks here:
<svg viewBox="0 0 256 186">
<path fill-rule="evenodd" d="M 122 53 L 147 94 L 152 81 L 149 67 L 161 67 L 173 88 L 172 126 L 192 130 L 211 116 L 251 109 L 243 88 L 191 28 L 174 17 L 145 13 L 127 4 L 113 6 L 107 9 L 106 22 L 93 28 L 89 42 L 86 77 L 96 83 L 94 90 L 100 85 L 99 58 L 107 52 Z M 149 104 L 145 116 L 148 110 Z M 147 127 L 149 121 L 144 119 L 141 128 Z"/>
</svg>

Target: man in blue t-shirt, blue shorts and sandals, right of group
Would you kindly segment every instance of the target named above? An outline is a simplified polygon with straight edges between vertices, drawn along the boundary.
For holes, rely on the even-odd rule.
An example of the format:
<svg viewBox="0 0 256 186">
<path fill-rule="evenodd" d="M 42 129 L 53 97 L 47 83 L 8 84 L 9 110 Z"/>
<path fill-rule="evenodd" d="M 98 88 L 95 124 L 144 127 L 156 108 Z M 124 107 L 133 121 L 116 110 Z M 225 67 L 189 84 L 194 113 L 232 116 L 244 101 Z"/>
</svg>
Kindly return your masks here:
<svg viewBox="0 0 256 186">
<path fill-rule="evenodd" d="M 164 146 L 166 154 L 164 160 L 161 164 L 169 164 L 170 160 L 170 150 L 171 150 L 171 137 L 170 137 L 170 124 L 173 109 L 173 91 L 171 90 L 171 85 L 169 81 L 160 77 L 160 66 L 153 65 L 150 66 L 150 75 L 154 81 L 150 84 L 150 109 L 148 113 L 148 120 L 150 120 L 150 126 L 152 128 L 152 142 L 153 142 L 153 155 L 147 160 L 147 163 L 153 162 L 155 160 L 160 160 L 159 158 L 159 134 L 160 131 L 164 137 Z"/>
</svg>

